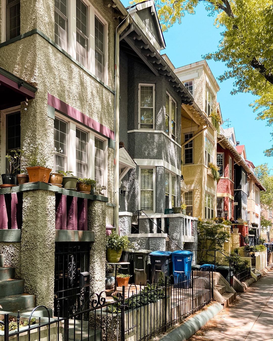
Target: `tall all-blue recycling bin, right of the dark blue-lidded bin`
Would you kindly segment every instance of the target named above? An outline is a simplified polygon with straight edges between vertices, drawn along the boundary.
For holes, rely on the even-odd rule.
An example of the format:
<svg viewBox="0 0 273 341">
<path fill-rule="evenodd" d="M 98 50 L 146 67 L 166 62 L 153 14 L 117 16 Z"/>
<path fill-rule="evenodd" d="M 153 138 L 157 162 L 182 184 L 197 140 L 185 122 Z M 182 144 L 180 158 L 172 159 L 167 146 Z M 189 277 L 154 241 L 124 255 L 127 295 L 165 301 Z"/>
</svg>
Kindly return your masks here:
<svg viewBox="0 0 273 341">
<path fill-rule="evenodd" d="M 191 262 L 193 253 L 187 250 L 172 252 L 174 283 L 180 283 L 179 287 L 189 288 L 191 278 Z"/>
</svg>

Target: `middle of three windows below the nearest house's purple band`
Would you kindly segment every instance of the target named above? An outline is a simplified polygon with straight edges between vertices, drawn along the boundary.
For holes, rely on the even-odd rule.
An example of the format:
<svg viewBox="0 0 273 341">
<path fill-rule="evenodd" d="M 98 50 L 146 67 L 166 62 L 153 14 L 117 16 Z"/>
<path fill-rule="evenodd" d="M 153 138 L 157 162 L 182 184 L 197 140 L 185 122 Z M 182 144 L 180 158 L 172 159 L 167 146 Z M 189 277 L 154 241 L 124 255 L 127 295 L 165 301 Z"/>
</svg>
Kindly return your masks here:
<svg viewBox="0 0 273 341">
<path fill-rule="evenodd" d="M 87 137 L 88 137 L 87 132 L 76 128 L 76 176 L 79 178 L 84 178 L 86 174 L 88 173 L 88 158 L 87 158 L 87 141 L 88 140 L 87 140 Z M 96 145 L 95 145 L 95 152 L 96 152 Z M 95 174 L 96 174 L 96 156 L 95 156 Z"/>
</svg>

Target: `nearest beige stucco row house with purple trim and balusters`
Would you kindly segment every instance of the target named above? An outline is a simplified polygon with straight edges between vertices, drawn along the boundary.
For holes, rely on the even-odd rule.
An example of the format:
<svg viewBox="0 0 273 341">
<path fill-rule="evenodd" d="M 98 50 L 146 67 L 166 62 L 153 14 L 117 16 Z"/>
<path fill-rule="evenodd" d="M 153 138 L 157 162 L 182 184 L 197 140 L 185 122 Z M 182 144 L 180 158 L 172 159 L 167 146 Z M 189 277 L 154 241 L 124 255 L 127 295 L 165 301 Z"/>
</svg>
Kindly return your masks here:
<svg viewBox="0 0 273 341">
<path fill-rule="evenodd" d="M 19 308 L 43 304 L 56 315 L 60 300 L 62 316 L 64 297 L 77 307 L 89 290 L 105 288 L 105 225 L 114 225 L 115 35 L 126 17 L 120 1 L 1 3 L 1 173 L 7 152 L 39 146 L 49 168 L 106 187 L 98 196 L 42 182 L 0 189 L 0 249 L 16 269 Z M 80 272 L 91 275 L 85 290 Z M 14 311 L 8 300 L 1 305 Z"/>
</svg>

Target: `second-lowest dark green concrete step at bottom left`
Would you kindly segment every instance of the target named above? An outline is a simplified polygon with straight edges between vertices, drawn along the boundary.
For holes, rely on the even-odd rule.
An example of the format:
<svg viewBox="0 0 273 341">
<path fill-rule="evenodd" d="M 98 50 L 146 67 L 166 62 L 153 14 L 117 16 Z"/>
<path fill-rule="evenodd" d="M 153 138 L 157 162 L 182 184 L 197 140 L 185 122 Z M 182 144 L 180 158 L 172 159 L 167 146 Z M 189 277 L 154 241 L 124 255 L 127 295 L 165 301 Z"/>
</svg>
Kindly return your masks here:
<svg viewBox="0 0 273 341">
<path fill-rule="evenodd" d="M 35 307 L 35 295 L 22 294 L 0 298 L 2 311 L 17 312 L 18 310 Z"/>
</svg>

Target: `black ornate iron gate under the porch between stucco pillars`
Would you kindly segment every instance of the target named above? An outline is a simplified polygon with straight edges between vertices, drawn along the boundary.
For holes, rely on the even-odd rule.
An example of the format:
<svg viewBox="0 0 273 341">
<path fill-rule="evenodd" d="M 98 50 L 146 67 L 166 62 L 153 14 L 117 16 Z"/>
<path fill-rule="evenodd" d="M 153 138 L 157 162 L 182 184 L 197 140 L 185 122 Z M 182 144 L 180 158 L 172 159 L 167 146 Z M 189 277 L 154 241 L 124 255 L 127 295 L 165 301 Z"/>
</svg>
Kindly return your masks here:
<svg viewBox="0 0 273 341">
<path fill-rule="evenodd" d="M 89 272 L 90 243 L 56 242 L 55 243 L 55 279 L 54 279 L 54 315 L 66 316 L 64 300 L 70 313 L 80 308 L 89 297 L 89 286 L 80 286 L 80 273 Z"/>
</svg>

